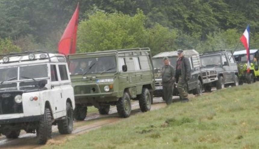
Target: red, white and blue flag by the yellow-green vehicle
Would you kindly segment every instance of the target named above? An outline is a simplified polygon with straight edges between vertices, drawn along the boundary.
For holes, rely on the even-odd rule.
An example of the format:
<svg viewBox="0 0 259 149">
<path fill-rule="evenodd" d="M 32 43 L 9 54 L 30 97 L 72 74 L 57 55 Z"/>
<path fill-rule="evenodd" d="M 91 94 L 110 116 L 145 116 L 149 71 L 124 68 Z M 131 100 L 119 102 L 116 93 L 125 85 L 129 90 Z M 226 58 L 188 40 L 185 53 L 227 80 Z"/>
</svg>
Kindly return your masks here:
<svg viewBox="0 0 259 149">
<path fill-rule="evenodd" d="M 250 71 L 250 51 L 249 51 L 249 25 L 246 27 L 245 32 L 240 38 L 240 41 L 243 43 L 246 49 L 246 59 L 247 59 L 247 72 Z"/>
</svg>

